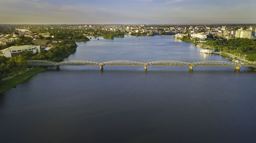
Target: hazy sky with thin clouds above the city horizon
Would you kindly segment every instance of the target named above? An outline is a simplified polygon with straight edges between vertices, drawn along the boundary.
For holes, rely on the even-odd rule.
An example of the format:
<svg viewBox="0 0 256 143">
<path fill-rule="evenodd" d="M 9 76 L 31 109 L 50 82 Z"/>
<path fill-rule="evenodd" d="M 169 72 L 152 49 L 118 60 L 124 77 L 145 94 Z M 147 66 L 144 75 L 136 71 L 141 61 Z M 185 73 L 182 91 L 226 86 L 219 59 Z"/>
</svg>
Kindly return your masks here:
<svg viewBox="0 0 256 143">
<path fill-rule="evenodd" d="M 256 23 L 255 0 L 0 0 L 0 24 Z"/>
</svg>

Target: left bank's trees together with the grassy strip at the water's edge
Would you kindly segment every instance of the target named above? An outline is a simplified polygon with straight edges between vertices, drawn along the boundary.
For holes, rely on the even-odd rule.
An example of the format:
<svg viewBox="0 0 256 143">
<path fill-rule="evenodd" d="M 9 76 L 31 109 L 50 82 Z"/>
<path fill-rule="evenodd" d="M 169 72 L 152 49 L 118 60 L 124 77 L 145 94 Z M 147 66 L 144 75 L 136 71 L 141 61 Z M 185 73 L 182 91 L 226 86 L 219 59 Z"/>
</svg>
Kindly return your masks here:
<svg viewBox="0 0 256 143">
<path fill-rule="evenodd" d="M 44 30 L 45 29 L 41 30 L 38 28 L 30 29 L 34 34 L 39 34 L 44 32 Z M 12 89 L 17 84 L 26 81 L 33 75 L 47 70 L 45 67 L 37 67 L 25 71 L 25 69 L 30 68 L 27 62 L 28 60 L 60 62 L 76 51 L 77 45 L 75 42 L 86 42 L 90 40 L 86 36 L 77 34 L 71 30 L 49 30 L 47 32 L 50 32 L 51 37 L 39 37 L 39 39 L 59 41 L 58 44 L 50 50 L 42 50 L 40 53 L 34 55 L 30 52 L 24 52 L 13 58 L 0 56 L 0 94 Z M 21 36 L 20 38 L 22 41 L 10 43 L 9 46 L 20 45 L 20 43 L 21 45 L 32 44 L 32 38 L 24 38 L 24 36 Z M 6 80 L 3 81 L 2 79 Z"/>
</svg>

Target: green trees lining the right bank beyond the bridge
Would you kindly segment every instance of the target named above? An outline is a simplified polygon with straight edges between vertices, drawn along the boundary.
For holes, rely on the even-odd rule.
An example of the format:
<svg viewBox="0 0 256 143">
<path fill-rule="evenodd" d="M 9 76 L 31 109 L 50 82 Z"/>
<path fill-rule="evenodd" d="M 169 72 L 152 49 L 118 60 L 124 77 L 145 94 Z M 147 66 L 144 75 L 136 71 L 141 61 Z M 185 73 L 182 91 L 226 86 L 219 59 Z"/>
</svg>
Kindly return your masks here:
<svg viewBox="0 0 256 143">
<path fill-rule="evenodd" d="M 236 39 L 224 39 L 218 37 L 212 37 L 209 35 L 206 39 L 206 43 L 198 43 L 198 39 L 190 39 L 190 36 L 184 36 L 180 40 L 184 42 L 189 42 L 195 45 L 200 45 L 203 48 L 207 47 L 209 49 L 214 49 L 215 51 L 221 51 L 221 55 L 225 58 L 231 60 L 238 60 L 237 58 L 231 58 L 229 55 L 225 54 L 232 53 L 241 59 L 254 62 L 256 61 L 256 40 L 247 38 L 236 38 Z"/>
</svg>

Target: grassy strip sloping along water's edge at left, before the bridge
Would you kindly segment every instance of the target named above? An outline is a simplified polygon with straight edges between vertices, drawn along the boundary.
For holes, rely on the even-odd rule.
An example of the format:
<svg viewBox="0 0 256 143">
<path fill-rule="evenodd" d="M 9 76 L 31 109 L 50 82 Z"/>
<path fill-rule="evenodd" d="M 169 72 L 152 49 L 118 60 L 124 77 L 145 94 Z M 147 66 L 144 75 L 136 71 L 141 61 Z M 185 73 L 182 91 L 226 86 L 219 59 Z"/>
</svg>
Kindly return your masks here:
<svg viewBox="0 0 256 143">
<path fill-rule="evenodd" d="M 14 88 L 17 84 L 22 83 L 33 75 L 45 70 L 46 68 L 34 68 L 17 76 L 11 77 L 5 81 L 0 81 L 0 94 Z"/>
</svg>

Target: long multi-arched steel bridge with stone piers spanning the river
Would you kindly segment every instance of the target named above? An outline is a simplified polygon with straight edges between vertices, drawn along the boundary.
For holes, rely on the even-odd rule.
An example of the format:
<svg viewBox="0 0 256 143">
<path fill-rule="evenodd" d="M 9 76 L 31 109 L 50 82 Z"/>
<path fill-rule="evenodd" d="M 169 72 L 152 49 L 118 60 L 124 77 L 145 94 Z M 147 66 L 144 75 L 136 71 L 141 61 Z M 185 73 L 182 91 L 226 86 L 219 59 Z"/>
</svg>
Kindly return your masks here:
<svg viewBox="0 0 256 143">
<path fill-rule="evenodd" d="M 182 62 L 182 61 L 173 61 L 173 60 L 161 60 L 161 61 L 152 61 L 152 62 L 138 62 L 138 61 L 129 61 L 129 60 L 116 60 L 108 62 L 94 62 L 86 60 L 72 60 L 72 61 L 63 61 L 63 62 L 52 62 L 45 60 L 29 60 L 30 66 L 56 66 L 56 69 L 59 69 L 59 66 L 99 66 L 103 70 L 103 66 L 144 66 L 144 69 L 147 70 L 147 66 L 188 66 L 190 70 L 193 70 L 195 66 L 218 66 L 218 67 L 235 67 L 237 70 L 240 70 L 240 67 L 255 67 L 256 63 L 248 62 L 243 64 L 226 62 L 226 61 L 199 61 L 194 63 Z"/>
</svg>

